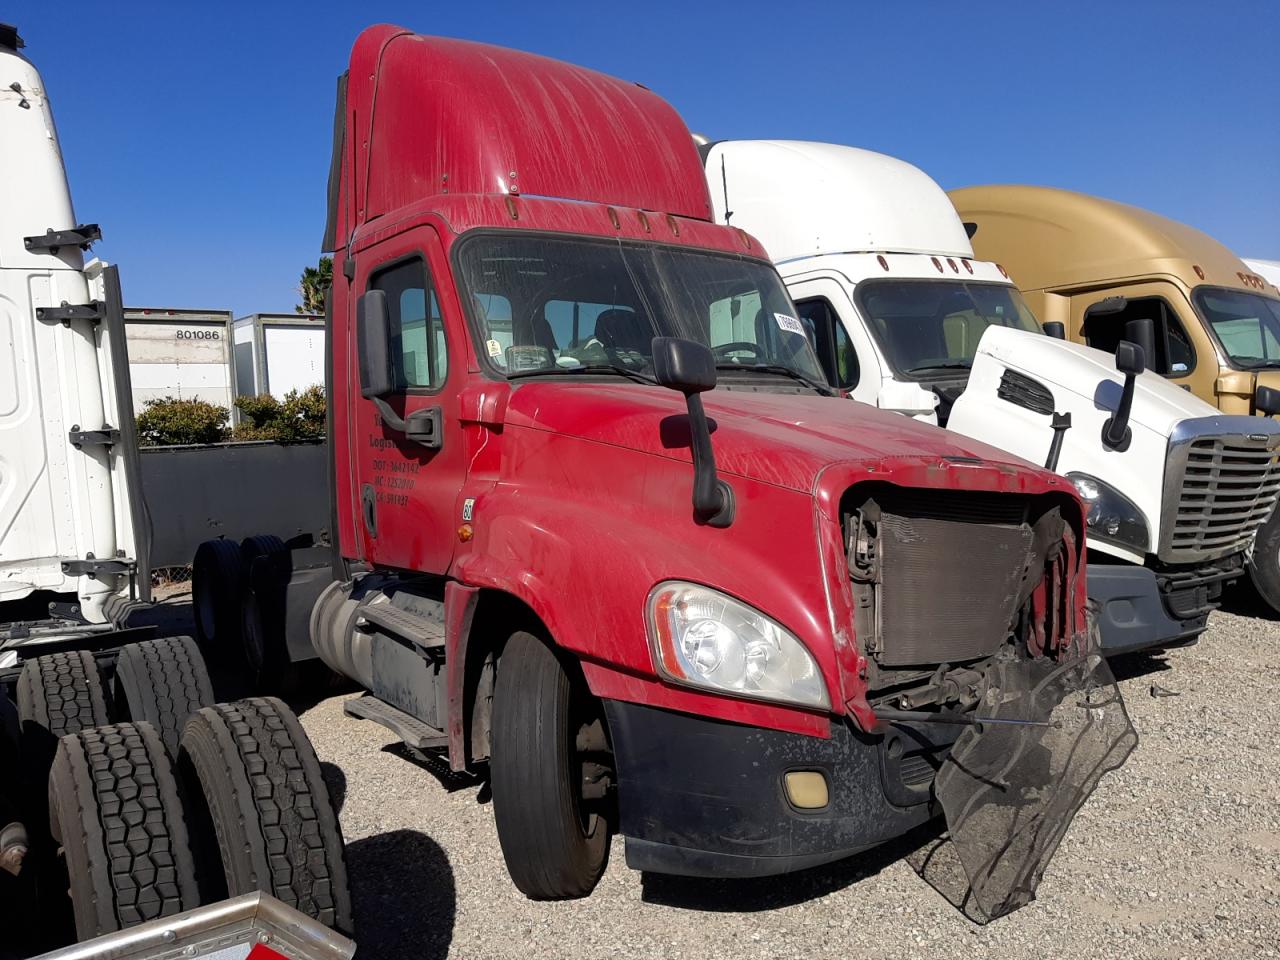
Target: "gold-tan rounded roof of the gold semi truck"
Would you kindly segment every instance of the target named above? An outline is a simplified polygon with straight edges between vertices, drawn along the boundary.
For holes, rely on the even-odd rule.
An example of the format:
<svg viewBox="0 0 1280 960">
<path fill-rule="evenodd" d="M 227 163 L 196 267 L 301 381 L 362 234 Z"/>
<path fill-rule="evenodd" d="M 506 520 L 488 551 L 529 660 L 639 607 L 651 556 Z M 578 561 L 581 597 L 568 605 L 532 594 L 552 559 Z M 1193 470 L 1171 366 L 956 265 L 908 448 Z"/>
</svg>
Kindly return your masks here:
<svg viewBox="0 0 1280 960">
<path fill-rule="evenodd" d="M 951 191 L 973 244 L 1009 268 L 1024 291 L 1064 289 L 1149 275 L 1261 291 L 1265 282 L 1208 234 L 1128 204 L 1053 187 Z"/>
</svg>

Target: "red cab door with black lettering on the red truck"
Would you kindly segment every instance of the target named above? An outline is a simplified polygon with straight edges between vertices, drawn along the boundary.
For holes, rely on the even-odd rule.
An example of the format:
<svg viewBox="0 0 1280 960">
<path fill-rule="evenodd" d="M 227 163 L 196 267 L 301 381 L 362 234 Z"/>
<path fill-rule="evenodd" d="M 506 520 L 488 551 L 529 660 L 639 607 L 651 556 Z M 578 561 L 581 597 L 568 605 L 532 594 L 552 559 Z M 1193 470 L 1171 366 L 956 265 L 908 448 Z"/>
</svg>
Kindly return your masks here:
<svg viewBox="0 0 1280 960">
<path fill-rule="evenodd" d="M 463 326 L 453 315 L 454 300 L 440 296 L 438 276 L 448 276 L 447 260 L 429 225 L 356 256 L 357 316 L 358 297 L 370 291 L 385 297 L 393 385 L 371 399 L 361 396 L 355 369 L 349 378 L 355 526 L 367 562 L 424 573 L 449 567 L 457 541 L 454 507 L 466 475 L 458 419 L 466 376 Z M 351 329 L 356 357 L 358 323 Z M 397 429 L 397 420 L 430 430 L 419 429 L 412 439 Z"/>
</svg>

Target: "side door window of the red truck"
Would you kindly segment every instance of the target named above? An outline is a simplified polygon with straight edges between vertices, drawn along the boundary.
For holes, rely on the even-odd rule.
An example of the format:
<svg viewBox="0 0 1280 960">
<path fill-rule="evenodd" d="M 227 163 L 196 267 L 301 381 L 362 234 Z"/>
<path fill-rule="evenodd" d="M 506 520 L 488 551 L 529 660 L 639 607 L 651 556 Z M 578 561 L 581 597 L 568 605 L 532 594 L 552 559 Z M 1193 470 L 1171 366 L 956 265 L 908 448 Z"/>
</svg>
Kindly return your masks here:
<svg viewBox="0 0 1280 960">
<path fill-rule="evenodd" d="M 407 389 L 438 390 L 449 366 L 440 303 L 420 257 L 374 273 L 370 289 L 387 294 L 392 357 L 399 384 Z"/>
</svg>

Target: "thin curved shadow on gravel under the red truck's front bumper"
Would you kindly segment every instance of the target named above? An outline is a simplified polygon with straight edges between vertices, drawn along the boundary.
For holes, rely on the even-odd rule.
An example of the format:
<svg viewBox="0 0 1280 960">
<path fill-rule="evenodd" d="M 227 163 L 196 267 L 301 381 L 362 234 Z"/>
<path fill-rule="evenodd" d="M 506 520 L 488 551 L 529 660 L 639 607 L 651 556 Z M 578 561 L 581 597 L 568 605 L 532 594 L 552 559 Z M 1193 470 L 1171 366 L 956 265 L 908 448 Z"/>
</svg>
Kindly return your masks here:
<svg viewBox="0 0 1280 960">
<path fill-rule="evenodd" d="M 707 879 L 646 873 L 641 881 L 641 899 L 646 904 L 708 913 L 777 910 L 817 900 L 874 877 L 884 868 L 937 841 L 945 829 L 946 824 L 936 819 L 847 860 L 813 867 L 786 877 Z"/>
</svg>

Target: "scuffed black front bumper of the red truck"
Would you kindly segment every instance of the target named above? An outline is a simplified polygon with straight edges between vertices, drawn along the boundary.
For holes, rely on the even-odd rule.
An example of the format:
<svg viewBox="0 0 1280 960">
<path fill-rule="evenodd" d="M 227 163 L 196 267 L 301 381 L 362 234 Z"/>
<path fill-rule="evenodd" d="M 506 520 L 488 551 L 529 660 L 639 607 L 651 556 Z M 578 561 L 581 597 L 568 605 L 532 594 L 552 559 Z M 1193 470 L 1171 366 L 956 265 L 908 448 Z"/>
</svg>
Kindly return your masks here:
<svg viewBox="0 0 1280 960">
<path fill-rule="evenodd" d="M 765 877 L 831 863 L 933 815 L 933 774 L 961 727 L 895 724 L 829 740 L 605 701 L 627 865 L 689 877 Z M 791 805 L 788 771 L 820 771 L 829 801 Z"/>
</svg>

